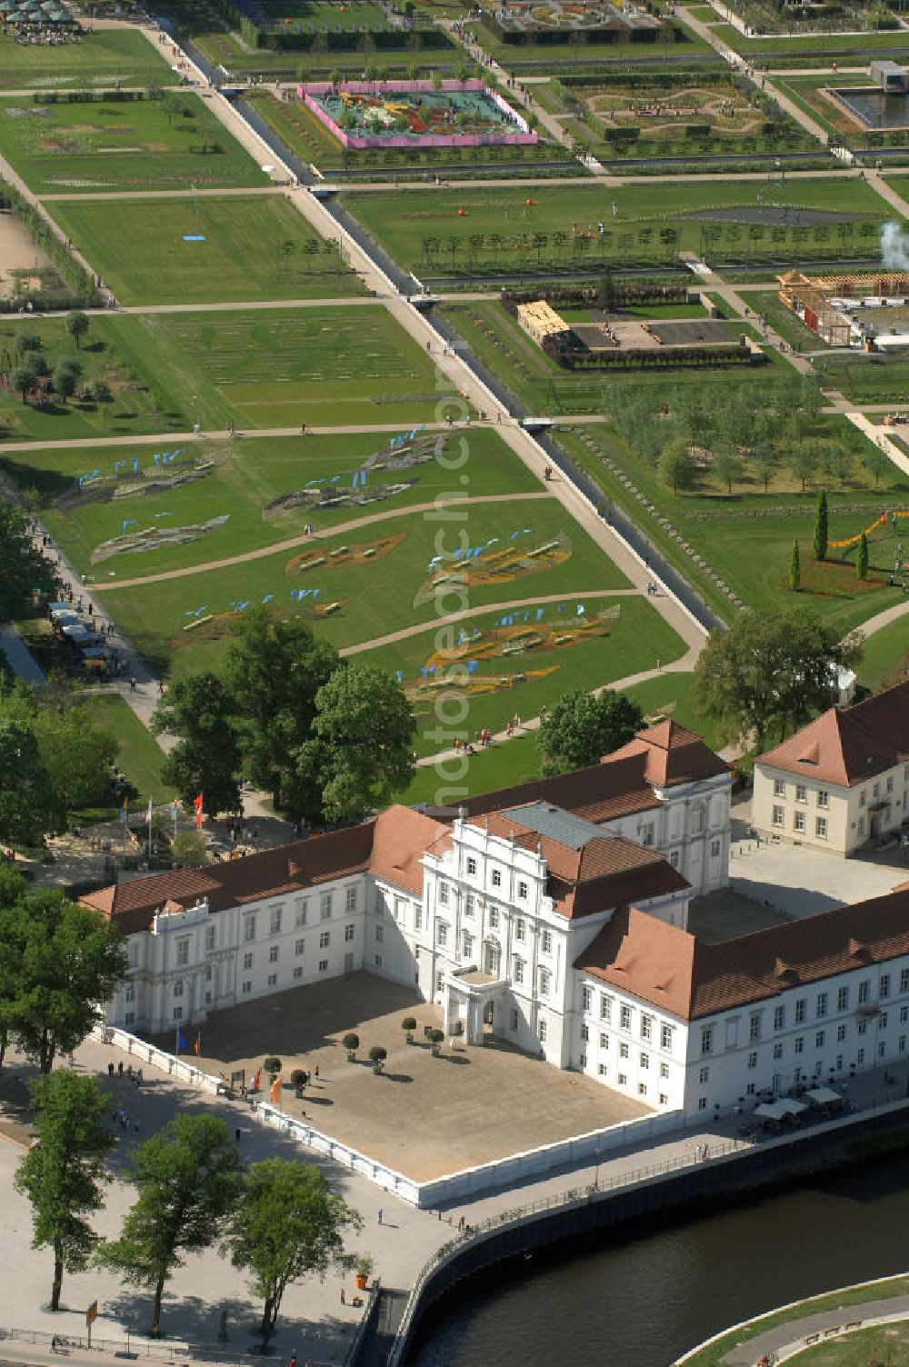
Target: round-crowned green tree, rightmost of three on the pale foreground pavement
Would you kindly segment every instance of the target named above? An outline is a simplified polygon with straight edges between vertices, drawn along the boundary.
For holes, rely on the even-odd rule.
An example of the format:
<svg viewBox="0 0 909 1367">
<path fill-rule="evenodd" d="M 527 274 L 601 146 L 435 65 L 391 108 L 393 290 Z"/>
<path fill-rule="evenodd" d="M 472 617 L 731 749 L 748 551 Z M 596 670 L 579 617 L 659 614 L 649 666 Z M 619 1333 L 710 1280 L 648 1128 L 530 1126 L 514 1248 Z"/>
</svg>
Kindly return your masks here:
<svg viewBox="0 0 909 1367">
<path fill-rule="evenodd" d="M 250 1274 L 250 1289 L 265 1303 L 262 1349 L 275 1331 L 287 1288 L 303 1277 L 324 1280 L 329 1267 L 351 1266 L 344 1234 L 362 1223 L 318 1167 L 272 1158 L 247 1169 L 226 1252 L 235 1267 Z"/>
</svg>

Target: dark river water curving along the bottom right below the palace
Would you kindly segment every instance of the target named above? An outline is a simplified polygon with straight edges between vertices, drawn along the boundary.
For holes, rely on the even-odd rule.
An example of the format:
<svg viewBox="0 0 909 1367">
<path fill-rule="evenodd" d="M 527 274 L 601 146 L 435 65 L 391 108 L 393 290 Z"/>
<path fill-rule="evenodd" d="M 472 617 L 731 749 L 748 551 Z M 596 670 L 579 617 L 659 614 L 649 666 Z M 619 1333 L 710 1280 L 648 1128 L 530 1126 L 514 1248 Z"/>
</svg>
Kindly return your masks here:
<svg viewBox="0 0 909 1367">
<path fill-rule="evenodd" d="M 511 1260 L 431 1307 L 407 1367 L 668 1367 L 785 1301 L 909 1270 L 909 1156 Z"/>
</svg>

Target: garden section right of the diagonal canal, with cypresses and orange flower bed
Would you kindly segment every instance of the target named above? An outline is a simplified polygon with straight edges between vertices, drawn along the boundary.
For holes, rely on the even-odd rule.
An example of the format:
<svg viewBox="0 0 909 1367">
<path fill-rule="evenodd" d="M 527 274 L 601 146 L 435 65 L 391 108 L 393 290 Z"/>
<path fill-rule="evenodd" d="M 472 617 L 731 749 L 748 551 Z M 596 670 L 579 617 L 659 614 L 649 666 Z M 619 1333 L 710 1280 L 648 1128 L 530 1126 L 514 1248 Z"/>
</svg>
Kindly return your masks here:
<svg viewBox="0 0 909 1367">
<path fill-rule="evenodd" d="M 731 427 L 722 405 L 716 418 L 718 431 Z M 888 584 L 897 545 L 893 528 L 878 528 L 869 536 L 865 580 L 856 577 L 854 545 L 831 551 L 823 563 L 811 558 L 817 488 L 828 492 L 831 539 L 850 537 L 876 518 L 880 480 L 894 506 L 909 506 L 909 481 L 843 418 L 823 420 L 817 435 L 798 439 L 794 450 L 791 436 L 771 442 L 767 492 L 753 454 L 737 451 L 727 481 L 723 452 L 729 443 L 722 436 L 703 437 L 696 448 L 694 485 L 678 493 L 659 477 L 655 457 L 642 458 L 629 442 L 632 433 L 618 429 L 622 421 L 619 417 L 616 427 L 596 432 L 563 432 L 559 443 L 727 621 L 737 604 L 755 610 L 798 606 L 813 608 L 845 633 L 899 600 L 899 586 Z M 671 414 L 663 416 L 663 424 L 668 439 Z M 805 465 L 800 465 L 800 452 Z M 793 473 L 798 470 L 801 474 Z M 794 540 L 802 547 L 798 595 L 790 591 L 787 576 Z"/>
</svg>

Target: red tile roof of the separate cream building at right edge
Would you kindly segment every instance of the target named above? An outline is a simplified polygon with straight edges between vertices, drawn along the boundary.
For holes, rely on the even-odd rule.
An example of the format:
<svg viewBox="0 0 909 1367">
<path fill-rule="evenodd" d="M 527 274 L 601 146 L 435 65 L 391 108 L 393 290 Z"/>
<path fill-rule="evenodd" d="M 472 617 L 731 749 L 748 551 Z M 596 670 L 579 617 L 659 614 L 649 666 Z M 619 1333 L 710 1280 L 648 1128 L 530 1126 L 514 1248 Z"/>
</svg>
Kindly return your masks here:
<svg viewBox="0 0 909 1367">
<path fill-rule="evenodd" d="M 759 764 L 852 787 L 909 759 L 909 681 L 802 726 Z"/>
</svg>

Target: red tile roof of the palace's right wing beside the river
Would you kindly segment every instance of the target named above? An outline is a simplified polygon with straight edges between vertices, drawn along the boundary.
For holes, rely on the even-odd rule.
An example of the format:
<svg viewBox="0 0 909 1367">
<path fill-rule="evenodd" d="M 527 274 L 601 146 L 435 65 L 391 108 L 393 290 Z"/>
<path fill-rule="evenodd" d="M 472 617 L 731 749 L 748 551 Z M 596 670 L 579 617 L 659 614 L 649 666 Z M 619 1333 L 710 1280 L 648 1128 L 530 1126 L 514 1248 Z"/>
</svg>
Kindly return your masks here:
<svg viewBox="0 0 909 1367">
<path fill-rule="evenodd" d="M 630 908 L 615 913 L 575 968 L 694 1020 L 902 954 L 909 954 L 909 884 L 722 945 Z"/>
</svg>

